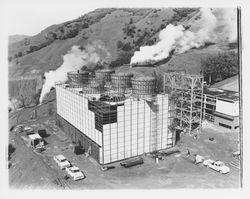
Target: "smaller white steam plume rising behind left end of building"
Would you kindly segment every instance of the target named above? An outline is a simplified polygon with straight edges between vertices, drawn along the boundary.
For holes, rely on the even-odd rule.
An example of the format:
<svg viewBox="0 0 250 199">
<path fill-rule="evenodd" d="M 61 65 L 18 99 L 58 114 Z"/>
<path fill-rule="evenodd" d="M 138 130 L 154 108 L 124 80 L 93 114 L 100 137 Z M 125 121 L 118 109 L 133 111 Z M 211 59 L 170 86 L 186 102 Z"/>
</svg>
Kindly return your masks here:
<svg viewBox="0 0 250 199">
<path fill-rule="evenodd" d="M 84 49 L 80 46 L 72 46 L 68 54 L 63 56 L 63 64 L 55 71 L 49 71 L 44 74 L 45 83 L 40 95 L 40 103 L 57 81 L 66 81 L 67 73 L 80 70 L 83 66 L 91 66 L 101 61 L 101 54 L 104 57 L 110 56 L 107 49 L 100 43 L 95 42 L 87 45 Z"/>
</svg>

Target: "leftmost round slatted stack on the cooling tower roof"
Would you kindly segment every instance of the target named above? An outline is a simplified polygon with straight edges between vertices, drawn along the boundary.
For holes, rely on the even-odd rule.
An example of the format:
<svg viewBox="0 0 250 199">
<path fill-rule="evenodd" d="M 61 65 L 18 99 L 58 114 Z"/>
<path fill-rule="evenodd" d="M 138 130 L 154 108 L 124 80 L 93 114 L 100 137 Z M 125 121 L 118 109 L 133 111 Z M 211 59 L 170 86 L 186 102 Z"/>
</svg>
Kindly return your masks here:
<svg viewBox="0 0 250 199">
<path fill-rule="evenodd" d="M 87 71 L 72 71 L 68 72 L 67 75 L 70 87 L 81 88 L 86 83 L 89 73 Z"/>
</svg>

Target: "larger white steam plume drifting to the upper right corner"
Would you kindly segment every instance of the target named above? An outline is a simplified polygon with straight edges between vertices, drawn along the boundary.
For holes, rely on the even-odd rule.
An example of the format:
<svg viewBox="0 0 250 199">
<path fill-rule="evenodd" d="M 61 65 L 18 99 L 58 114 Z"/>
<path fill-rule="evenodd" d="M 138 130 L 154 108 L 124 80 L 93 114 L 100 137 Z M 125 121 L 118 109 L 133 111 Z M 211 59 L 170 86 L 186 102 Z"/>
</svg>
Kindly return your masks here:
<svg viewBox="0 0 250 199">
<path fill-rule="evenodd" d="M 191 48 L 198 48 L 207 42 L 217 42 L 218 33 L 229 42 L 237 39 L 236 10 L 209 8 L 200 9 L 200 19 L 189 30 L 182 25 L 169 24 L 159 33 L 159 41 L 152 46 L 142 46 L 134 53 L 130 64 L 159 61 L 175 53 L 183 53 Z M 219 32 L 218 32 L 219 31 Z"/>
</svg>

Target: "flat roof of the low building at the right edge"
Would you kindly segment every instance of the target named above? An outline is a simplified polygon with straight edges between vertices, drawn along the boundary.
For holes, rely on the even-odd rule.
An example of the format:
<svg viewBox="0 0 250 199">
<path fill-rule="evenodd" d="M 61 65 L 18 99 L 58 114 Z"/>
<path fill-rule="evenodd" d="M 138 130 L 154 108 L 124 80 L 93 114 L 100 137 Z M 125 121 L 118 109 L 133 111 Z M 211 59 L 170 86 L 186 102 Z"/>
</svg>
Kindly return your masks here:
<svg viewBox="0 0 250 199">
<path fill-rule="evenodd" d="M 231 101 L 239 101 L 239 93 L 219 88 L 204 88 L 203 94 Z"/>
</svg>

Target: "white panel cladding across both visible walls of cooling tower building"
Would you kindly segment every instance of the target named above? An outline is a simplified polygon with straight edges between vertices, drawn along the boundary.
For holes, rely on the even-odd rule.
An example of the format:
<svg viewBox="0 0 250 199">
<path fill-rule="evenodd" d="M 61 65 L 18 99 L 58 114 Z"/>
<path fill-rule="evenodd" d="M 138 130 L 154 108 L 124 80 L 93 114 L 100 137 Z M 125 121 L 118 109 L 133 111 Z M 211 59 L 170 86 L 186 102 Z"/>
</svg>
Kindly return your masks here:
<svg viewBox="0 0 250 199">
<path fill-rule="evenodd" d="M 75 126 L 86 139 L 99 146 L 99 163 L 108 164 L 144 153 L 172 147 L 168 131 L 168 96 L 157 95 L 155 102 L 124 101 L 117 106 L 117 122 L 95 128 L 95 113 L 88 110 L 88 99 L 71 88 L 56 86 L 57 113 Z"/>
</svg>

